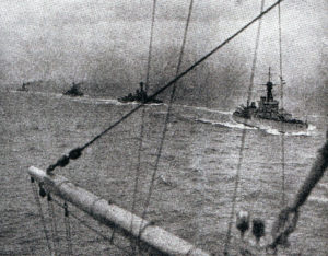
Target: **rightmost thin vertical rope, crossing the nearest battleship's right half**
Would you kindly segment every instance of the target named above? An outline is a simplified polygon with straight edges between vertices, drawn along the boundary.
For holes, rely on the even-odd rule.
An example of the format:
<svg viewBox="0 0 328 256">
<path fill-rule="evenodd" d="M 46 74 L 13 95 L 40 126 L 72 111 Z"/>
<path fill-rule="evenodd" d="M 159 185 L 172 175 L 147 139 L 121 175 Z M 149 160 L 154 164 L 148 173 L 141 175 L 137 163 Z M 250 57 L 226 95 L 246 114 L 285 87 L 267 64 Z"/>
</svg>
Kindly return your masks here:
<svg viewBox="0 0 328 256">
<path fill-rule="evenodd" d="M 280 3 L 278 4 L 278 25 L 279 25 L 279 70 L 280 70 L 280 102 L 281 107 L 283 108 L 283 77 L 282 77 L 282 44 L 281 44 L 281 8 Z M 283 130 L 283 121 L 281 123 Z M 285 160 L 284 160 L 284 133 L 281 133 L 281 178 L 282 178 L 282 198 L 281 205 L 285 205 Z"/>
</svg>

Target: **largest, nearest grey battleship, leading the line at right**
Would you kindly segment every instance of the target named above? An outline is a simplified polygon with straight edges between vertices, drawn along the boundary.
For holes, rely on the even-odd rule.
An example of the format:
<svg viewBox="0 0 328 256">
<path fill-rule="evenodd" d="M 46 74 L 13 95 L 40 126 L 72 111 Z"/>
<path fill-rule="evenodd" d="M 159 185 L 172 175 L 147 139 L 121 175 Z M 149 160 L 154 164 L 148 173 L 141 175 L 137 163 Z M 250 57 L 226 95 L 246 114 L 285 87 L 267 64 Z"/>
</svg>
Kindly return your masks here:
<svg viewBox="0 0 328 256">
<path fill-rule="evenodd" d="M 241 105 L 233 113 L 233 119 L 237 123 L 256 128 L 273 128 L 280 132 L 302 131 L 308 128 L 307 121 L 292 117 L 283 108 L 279 108 L 279 101 L 273 98 L 272 89 L 276 84 L 271 82 L 269 68 L 269 79 L 263 85 L 267 88 L 267 95 L 261 96 L 256 106 L 255 102 L 247 101 L 247 105 Z"/>
</svg>

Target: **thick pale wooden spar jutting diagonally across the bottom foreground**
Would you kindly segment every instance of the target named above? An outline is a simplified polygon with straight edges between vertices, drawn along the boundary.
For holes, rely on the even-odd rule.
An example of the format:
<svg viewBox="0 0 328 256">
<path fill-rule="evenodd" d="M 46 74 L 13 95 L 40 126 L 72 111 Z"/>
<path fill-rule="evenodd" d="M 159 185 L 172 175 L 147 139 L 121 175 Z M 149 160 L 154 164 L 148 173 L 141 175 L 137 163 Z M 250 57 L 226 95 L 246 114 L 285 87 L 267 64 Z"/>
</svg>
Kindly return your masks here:
<svg viewBox="0 0 328 256">
<path fill-rule="evenodd" d="M 109 228 L 115 226 L 125 236 L 130 236 L 138 243 L 148 246 L 156 255 L 210 255 L 200 248 L 196 248 L 189 242 L 153 225 L 152 222 L 75 186 L 63 176 L 49 175 L 34 166 L 28 168 L 28 174 L 45 189 L 46 194 L 56 195 L 62 200 L 74 205 L 102 224 Z"/>
</svg>

